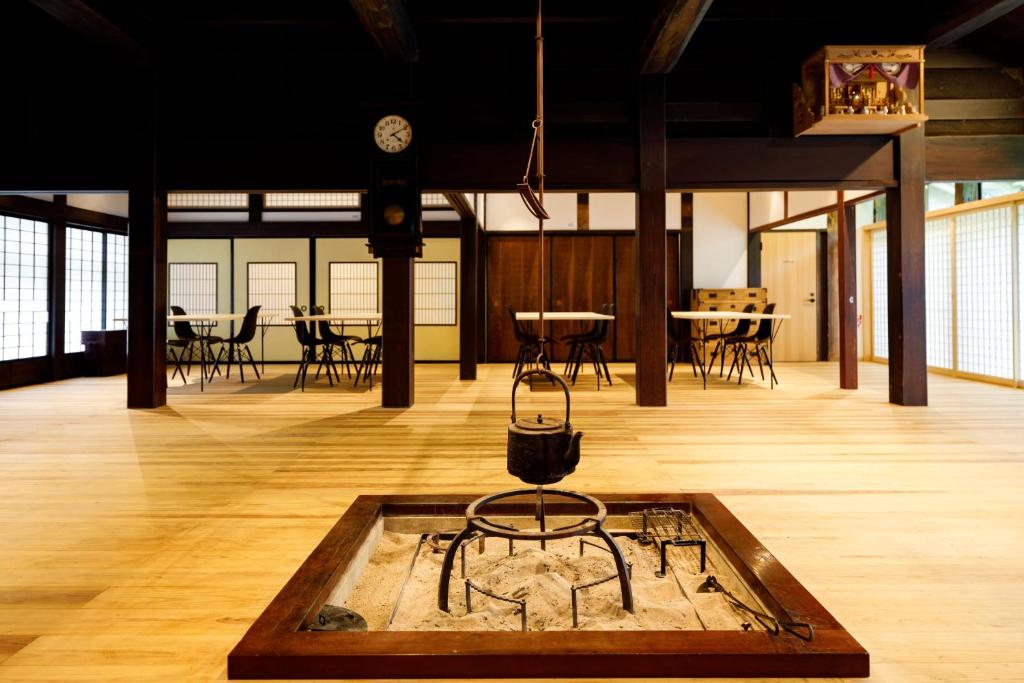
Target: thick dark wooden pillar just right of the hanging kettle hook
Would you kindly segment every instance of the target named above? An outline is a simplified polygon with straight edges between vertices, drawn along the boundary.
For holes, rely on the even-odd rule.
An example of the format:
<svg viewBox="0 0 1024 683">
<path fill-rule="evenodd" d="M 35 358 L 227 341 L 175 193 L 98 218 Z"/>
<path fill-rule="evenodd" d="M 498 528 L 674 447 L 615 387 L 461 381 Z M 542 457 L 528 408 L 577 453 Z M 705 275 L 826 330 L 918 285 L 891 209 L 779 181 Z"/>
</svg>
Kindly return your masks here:
<svg viewBox="0 0 1024 683">
<path fill-rule="evenodd" d="M 636 237 L 636 396 L 638 405 L 667 405 L 667 232 L 665 225 L 665 77 L 640 84 Z"/>
</svg>

